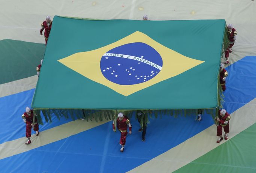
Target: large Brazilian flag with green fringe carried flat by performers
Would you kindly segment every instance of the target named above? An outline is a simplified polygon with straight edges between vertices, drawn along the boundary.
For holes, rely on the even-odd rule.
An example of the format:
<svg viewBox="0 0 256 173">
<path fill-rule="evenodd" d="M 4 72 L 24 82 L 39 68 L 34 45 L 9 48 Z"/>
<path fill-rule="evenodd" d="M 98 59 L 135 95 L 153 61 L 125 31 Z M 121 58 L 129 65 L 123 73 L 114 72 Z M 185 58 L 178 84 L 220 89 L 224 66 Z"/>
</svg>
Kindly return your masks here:
<svg viewBox="0 0 256 173">
<path fill-rule="evenodd" d="M 224 20 L 55 16 L 32 107 L 45 118 L 216 109 Z M 181 113 L 180 112 L 180 113 Z"/>
</svg>

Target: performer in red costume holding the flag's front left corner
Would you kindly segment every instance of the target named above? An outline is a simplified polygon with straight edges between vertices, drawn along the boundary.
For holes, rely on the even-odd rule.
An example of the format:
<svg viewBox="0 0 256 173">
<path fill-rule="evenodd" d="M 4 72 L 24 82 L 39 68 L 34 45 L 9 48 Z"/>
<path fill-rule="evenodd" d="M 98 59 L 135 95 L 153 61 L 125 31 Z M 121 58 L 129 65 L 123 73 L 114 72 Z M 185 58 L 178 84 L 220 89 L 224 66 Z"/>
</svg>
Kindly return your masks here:
<svg viewBox="0 0 256 173">
<path fill-rule="evenodd" d="M 29 107 L 26 107 L 26 112 L 21 116 L 24 123 L 26 123 L 26 137 L 28 141 L 25 144 L 30 144 L 31 140 L 31 128 L 33 127 L 34 131 L 36 131 L 36 135 L 39 135 L 39 126 L 36 119 L 36 114 L 34 115 L 33 110 L 30 110 Z M 35 119 L 34 123 L 33 120 Z"/>
</svg>

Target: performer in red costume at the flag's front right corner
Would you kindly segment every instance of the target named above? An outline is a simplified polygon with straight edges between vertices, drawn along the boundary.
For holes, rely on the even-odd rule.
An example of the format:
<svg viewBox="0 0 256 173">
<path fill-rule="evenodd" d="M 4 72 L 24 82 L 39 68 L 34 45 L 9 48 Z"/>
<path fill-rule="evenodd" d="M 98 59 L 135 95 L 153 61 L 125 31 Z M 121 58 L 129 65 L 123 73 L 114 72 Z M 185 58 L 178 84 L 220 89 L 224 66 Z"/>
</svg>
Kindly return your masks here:
<svg viewBox="0 0 256 173">
<path fill-rule="evenodd" d="M 225 132 L 225 140 L 227 140 L 227 133 L 229 133 L 229 120 L 230 115 L 226 112 L 226 110 L 221 109 L 219 110 L 219 115 L 216 118 L 216 125 L 217 125 L 217 136 L 219 137 L 217 140 L 217 143 L 220 143 L 220 141 L 223 140 L 222 137 L 222 127 Z"/>
</svg>

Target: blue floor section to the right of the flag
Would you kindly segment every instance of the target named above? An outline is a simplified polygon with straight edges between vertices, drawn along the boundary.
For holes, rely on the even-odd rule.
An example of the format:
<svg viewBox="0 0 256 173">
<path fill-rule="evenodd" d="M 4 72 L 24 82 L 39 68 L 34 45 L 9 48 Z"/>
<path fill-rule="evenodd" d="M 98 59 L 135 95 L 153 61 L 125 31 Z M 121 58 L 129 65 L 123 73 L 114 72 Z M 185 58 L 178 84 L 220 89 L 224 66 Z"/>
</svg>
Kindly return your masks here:
<svg viewBox="0 0 256 173">
<path fill-rule="evenodd" d="M 256 56 L 246 56 L 226 68 L 224 108 L 229 113 L 256 98 Z"/>
</svg>

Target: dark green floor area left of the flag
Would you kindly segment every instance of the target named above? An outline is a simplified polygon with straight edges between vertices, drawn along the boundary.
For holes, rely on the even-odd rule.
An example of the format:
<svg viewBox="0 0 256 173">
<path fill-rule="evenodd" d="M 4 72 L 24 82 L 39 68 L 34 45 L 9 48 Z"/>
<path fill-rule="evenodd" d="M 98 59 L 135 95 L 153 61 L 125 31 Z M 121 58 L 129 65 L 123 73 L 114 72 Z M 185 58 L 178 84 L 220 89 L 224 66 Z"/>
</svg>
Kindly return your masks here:
<svg viewBox="0 0 256 173">
<path fill-rule="evenodd" d="M 45 44 L 5 39 L 0 41 L 0 84 L 36 75 Z"/>
</svg>

